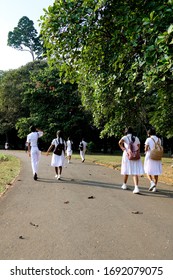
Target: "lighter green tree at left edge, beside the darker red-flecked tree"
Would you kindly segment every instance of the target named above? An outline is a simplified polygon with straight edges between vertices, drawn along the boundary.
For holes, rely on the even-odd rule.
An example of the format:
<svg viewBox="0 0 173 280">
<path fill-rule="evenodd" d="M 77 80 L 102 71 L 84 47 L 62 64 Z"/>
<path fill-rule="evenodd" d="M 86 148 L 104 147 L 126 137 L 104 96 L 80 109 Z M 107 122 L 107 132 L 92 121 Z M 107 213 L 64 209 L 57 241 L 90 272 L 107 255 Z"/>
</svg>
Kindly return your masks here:
<svg viewBox="0 0 173 280">
<path fill-rule="evenodd" d="M 28 63 L 17 70 L 3 73 L 0 78 L 0 134 L 7 134 L 15 128 L 19 118 L 29 116 L 28 104 L 23 103 L 26 82 L 30 81 L 30 72 L 36 74 L 45 62 Z M 28 131 L 28 127 L 27 127 Z"/>
</svg>

